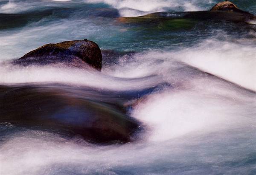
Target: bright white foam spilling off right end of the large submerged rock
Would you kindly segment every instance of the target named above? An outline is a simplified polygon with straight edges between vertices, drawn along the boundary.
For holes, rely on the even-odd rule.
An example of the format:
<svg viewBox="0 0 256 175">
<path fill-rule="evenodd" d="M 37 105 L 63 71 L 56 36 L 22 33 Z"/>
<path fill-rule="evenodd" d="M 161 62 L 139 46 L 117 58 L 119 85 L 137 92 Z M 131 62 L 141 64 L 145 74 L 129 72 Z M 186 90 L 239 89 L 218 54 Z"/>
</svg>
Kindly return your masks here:
<svg viewBox="0 0 256 175">
<path fill-rule="evenodd" d="M 256 114 L 255 106 L 255 94 L 241 96 L 225 83 L 194 80 L 186 90 L 167 90 L 146 97 L 135 107 L 133 116 L 151 128 L 149 140 L 166 141 L 255 124 L 248 118 Z"/>
</svg>

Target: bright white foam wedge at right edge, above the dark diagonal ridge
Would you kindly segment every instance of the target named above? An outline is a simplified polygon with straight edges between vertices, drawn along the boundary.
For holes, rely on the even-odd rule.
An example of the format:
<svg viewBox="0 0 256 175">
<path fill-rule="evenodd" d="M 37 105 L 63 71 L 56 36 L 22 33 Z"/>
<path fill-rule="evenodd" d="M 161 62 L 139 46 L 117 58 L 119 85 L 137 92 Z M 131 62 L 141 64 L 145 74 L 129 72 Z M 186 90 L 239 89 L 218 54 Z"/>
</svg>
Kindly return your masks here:
<svg viewBox="0 0 256 175">
<path fill-rule="evenodd" d="M 253 45 L 207 40 L 175 56 L 203 71 L 256 90 L 256 50 Z"/>
</svg>

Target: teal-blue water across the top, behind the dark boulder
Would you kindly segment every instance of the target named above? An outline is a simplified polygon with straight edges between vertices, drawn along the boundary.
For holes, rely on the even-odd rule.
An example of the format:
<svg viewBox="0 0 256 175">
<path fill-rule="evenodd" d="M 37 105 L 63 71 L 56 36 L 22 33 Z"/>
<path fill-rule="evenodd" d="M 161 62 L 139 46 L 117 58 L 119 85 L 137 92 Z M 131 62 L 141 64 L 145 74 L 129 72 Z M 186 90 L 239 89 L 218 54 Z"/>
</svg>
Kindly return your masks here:
<svg viewBox="0 0 256 175">
<path fill-rule="evenodd" d="M 64 40 L 87 38 L 97 42 L 102 49 L 143 51 L 148 48 L 172 48 L 192 45 L 200 42 L 201 39 L 216 36 L 218 33 L 238 32 L 235 37 L 239 37 L 251 30 L 241 25 L 238 28 L 232 24 L 221 23 L 217 25 L 212 22 L 202 23 L 200 21 L 170 21 L 169 23 L 151 25 L 125 24 L 120 23 L 116 18 L 112 18 L 122 16 L 122 11 L 128 11 L 127 9 L 130 9 L 130 11 L 125 12 L 125 16 L 138 16 L 137 11 L 140 11 L 140 8 L 141 11 L 148 10 L 142 14 L 163 10 L 208 10 L 217 2 L 209 0 L 192 0 L 191 2 L 188 0 L 157 1 L 155 6 L 154 3 L 152 3 L 152 7 L 145 9 L 136 6 L 134 11 L 131 10 L 133 1 L 125 3 L 122 0 L 120 2 L 109 1 L 112 2 L 109 4 L 104 3 L 108 2 L 104 0 L 99 1 L 99 3 L 89 3 L 81 0 L 72 0 L 65 3 L 31 0 L 10 2 L 8 6 L 8 1 L 1 1 L 1 4 L 3 4 L 1 12 L 23 14 L 23 16 L 15 18 L 15 21 L 18 21 L 17 25 L 15 25 L 16 22 L 9 21 L 10 27 L 8 28 L 8 24 L 4 25 L 1 30 L 1 47 L 4 53 L 2 59 L 22 56 L 45 43 Z M 247 0 L 243 3 L 237 1 L 235 3 L 243 10 L 255 12 L 256 5 L 253 1 Z M 161 4 L 167 4 L 169 7 L 162 7 Z M 106 10 L 108 11 L 106 12 Z M 30 15 L 26 16 L 26 14 Z M 178 25 L 178 27 L 175 27 L 175 25 Z"/>
</svg>

